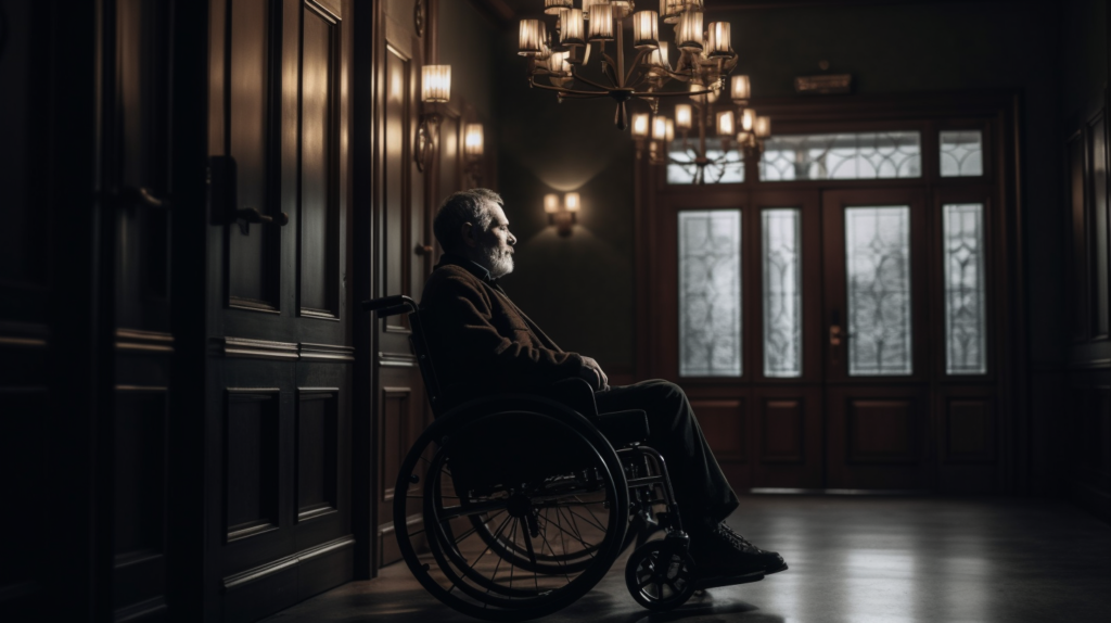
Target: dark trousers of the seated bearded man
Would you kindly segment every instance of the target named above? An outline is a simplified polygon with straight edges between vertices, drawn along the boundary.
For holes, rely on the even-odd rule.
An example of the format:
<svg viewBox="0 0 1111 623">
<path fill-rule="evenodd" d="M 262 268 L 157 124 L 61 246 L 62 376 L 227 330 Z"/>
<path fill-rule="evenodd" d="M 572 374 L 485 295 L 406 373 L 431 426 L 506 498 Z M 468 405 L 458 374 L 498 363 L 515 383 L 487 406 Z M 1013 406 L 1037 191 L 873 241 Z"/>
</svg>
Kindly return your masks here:
<svg viewBox="0 0 1111 623">
<path fill-rule="evenodd" d="M 639 409 L 648 413 L 647 445 L 663 454 L 685 530 L 717 525 L 737 506 L 718 460 L 702 435 L 683 390 L 659 379 L 594 394 L 599 413 Z"/>
</svg>

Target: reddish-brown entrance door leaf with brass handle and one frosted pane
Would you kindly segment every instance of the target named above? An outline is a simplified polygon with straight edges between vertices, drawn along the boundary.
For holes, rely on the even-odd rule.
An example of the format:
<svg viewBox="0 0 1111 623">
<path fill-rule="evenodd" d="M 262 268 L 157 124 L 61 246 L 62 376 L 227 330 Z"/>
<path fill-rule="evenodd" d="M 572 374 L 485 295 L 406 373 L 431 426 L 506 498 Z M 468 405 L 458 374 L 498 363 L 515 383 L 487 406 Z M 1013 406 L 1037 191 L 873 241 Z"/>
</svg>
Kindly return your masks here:
<svg viewBox="0 0 1111 623">
<path fill-rule="evenodd" d="M 930 489 L 924 192 L 827 191 L 827 486 Z"/>
</svg>

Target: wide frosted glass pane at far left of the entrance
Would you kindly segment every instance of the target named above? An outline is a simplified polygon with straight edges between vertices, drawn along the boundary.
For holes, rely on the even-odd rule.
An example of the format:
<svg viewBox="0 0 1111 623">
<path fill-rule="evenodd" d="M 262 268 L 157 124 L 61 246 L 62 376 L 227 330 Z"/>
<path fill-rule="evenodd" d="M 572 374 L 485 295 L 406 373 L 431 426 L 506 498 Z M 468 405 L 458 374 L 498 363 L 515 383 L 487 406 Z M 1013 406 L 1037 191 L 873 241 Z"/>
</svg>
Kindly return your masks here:
<svg viewBox="0 0 1111 623">
<path fill-rule="evenodd" d="M 741 211 L 679 213 L 679 375 L 741 375 Z"/>
</svg>

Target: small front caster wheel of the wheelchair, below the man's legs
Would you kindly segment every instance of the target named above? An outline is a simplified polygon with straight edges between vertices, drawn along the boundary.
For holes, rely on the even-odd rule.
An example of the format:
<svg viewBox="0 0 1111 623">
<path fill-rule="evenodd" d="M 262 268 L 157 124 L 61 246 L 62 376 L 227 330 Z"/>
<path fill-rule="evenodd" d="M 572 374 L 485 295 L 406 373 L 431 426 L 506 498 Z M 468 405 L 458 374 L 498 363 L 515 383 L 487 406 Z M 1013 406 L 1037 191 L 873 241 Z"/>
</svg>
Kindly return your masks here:
<svg viewBox="0 0 1111 623">
<path fill-rule="evenodd" d="M 683 550 L 668 540 L 652 541 L 629 555 L 625 586 L 637 603 L 667 611 L 694 594 L 694 560 Z"/>
</svg>

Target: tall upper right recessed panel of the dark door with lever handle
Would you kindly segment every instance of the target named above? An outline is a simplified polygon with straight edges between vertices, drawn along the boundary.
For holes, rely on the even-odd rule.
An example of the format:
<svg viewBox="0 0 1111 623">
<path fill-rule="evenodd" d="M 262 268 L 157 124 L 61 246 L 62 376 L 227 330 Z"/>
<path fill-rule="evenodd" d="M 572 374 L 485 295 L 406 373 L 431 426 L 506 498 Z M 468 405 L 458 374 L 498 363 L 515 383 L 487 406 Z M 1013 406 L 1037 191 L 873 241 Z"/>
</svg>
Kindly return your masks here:
<svg viewBox="0 0 1111 623">
<path fill-rule="evenodd" d="M 300 304 L 303 314 L 336 316 L 339 309 L 334 87 L 336 26 L 303 10 L 301 40 Z"/>
</svg>

